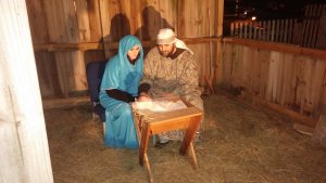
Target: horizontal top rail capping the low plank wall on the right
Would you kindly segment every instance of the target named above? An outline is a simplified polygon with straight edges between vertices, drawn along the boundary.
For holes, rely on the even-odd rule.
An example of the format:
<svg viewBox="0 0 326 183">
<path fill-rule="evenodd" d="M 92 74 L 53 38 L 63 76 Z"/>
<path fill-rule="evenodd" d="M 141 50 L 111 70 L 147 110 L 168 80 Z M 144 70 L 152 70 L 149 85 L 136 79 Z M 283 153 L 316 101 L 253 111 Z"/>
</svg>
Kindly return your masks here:
<svg viewBox="0 0 326 183">
<path fill-rule="evenodd" d="M 293 45 L 293 44 L 258 41 L 251 39 L 239 39 L 239 38 L 224 38 L 223 42 L 231 43 L 231 44 L 241 44 L 241 45 L 252 47 L 262 50 L 278 51 L 283 53 L 286 52 L 286 53 L 292 53 L 297 55 L 306 55 L 306 56 L 326 60 L 325 50 L 301 48 L 299 45 Z"/>
</svg>

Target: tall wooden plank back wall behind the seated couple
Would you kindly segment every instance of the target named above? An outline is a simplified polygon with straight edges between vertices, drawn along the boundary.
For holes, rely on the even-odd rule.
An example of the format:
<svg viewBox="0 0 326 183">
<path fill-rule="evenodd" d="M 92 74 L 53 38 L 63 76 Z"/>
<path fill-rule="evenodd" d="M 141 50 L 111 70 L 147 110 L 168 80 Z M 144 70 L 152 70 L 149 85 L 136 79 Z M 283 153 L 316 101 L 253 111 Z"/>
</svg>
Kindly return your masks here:
<svg viewBox="0 0 326 183">
<path fill-rule="evenodd" d="M 160 28 L 171 27 L 179 38 L 216 37 L 216 3 L 217 0 L 26 1 L 34 45 L 46 48 L 35 53 L 42 97 L 70 97 L 75 91 L 86 91 L 85 65 L 111 57 L 116 52 L 112 48 L 127 34 L 152 41 Z M 84 48 L 82 43 L 91 45 Z M 97 45 L 102 43 L 103 47 Z M 216 43 L 206 41 L 189 48 L 198 58 L 204 86 L 203 76 L 214 73 Z"/>
</svg>

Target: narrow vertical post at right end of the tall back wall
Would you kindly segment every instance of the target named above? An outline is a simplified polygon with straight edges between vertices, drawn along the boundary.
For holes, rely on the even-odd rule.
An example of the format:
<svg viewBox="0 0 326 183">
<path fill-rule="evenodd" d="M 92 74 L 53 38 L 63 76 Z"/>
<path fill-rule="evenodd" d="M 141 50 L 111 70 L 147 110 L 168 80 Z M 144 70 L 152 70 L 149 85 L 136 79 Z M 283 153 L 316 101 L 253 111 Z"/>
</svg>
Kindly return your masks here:
<svg viewBox="0 0 326 183">
<path fill-rule="evenodd" d="M 224 0 L 217 0 L 217 37 L 222 38 L 223 36 L 223 14 L 224 14 Z M 222 82 L 222 60 L 223 60 L 223 52 L 222 52 L 222 39 L 217 41 L 217 63 L 215 69 L 215 84 L 220 84 Z"/>
</svg>

